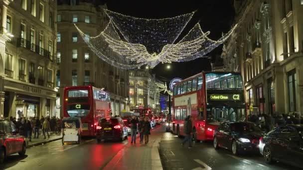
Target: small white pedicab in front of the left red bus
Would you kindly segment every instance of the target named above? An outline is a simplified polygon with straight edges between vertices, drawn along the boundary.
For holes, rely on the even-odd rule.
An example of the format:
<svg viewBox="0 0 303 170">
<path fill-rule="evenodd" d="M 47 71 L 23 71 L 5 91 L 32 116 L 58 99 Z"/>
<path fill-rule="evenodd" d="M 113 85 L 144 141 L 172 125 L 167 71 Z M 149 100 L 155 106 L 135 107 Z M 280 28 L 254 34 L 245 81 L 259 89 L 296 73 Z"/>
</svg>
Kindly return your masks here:
<svg viewBox="0 0 303 170">
<path fill-rule="evenodd" d="M 62 145 L 65 142 L 77 142 L 80 144 L 82 134 L 82 122 L 79 117 L 65 117 L 62 120 Z"/>
</svg>

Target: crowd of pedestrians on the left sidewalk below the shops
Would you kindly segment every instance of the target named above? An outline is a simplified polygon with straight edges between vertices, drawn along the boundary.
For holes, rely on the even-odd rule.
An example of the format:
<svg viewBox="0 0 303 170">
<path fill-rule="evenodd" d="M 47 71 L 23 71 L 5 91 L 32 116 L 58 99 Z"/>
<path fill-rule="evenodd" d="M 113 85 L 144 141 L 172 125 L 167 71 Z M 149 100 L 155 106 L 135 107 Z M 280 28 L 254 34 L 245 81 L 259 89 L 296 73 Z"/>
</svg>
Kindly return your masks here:
<svg viewBox="0 0 303 170">
<path fill-rule="evenodd" d="M 48 116 L 44 118 L 42 116 L 41 119 L 36 117 L 31 117 L 29 119 L 26 117 L 21 117 L 16 120 L 11 116 L 9 117 L 9 120 L 14 123 L 17 133 L 24 136 L 27 139 L 27 142 L 31 142 L 32 134 L 34 134 L 34 138 L 38 139 L 40 135 L 40 129 L 42 129 L 44 139 L 46 139 L 46 135 L 49 138 L 50 131 L 53 133 L 61 133 L 60 124 L 62 122 L 62 119 L 56 119 L 55 117 L 50 118 Z M 54 127 L 57 128 L 55 129 Z"/>
</svg>

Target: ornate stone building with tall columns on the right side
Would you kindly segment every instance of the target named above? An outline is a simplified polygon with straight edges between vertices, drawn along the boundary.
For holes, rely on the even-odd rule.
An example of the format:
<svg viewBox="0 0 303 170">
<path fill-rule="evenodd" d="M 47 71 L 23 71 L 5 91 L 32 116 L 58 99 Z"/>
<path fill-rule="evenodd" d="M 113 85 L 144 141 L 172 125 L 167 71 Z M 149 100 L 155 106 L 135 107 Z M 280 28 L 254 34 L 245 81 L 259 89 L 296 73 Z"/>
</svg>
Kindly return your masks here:
<svg viewBox="0 0 303 170">
<path fill-rule="evenodd" d="M 224 44 L 224 69 L 241 71 L 246 102 L 261 113 L 302 115 L 303 1 L 234 0 L 234 7 L 239 27 Z"/>
</svg>

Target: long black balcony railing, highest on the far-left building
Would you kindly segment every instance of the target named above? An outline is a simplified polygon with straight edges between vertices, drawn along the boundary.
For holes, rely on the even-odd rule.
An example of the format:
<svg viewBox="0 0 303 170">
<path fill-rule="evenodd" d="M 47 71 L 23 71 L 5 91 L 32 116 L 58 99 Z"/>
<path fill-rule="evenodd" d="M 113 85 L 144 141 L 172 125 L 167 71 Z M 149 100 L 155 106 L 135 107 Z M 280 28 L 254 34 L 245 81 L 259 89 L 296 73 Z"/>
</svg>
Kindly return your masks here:
<svg viewBox="0 0 303 170">
<path fill-rule="evenodd" d="M 35 45 L 33 43 L 30 43 L 30 41 L 24 39 L 24 38 L 18 38 L 17 39 L 17 47 L 23 47 L 30 51 L 36 52 L 37 54 L 46 57 L 47 59 L 51 60 L 50 52 L 45 50 L 44 48 L 39 47 L 38 45 Z"/>
</svg>

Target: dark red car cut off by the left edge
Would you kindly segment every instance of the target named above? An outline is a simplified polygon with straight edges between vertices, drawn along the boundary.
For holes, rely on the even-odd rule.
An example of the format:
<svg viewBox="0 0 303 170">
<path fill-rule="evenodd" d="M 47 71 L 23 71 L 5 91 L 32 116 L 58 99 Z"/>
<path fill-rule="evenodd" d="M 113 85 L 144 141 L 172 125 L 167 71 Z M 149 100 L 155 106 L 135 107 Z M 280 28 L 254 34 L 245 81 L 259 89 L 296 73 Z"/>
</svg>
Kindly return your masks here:
<svg viewBox="0 0 303 170">
<path fill-rule="evenodd" d="M 17 134 L 15 125 L 11 121 L 0 120 L 0 164 L 8 155 L 18 153 L 24 156 L 25 152 L 25 138 Z"/>
</svg>

